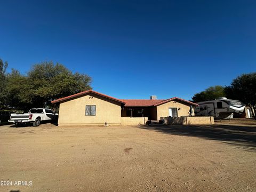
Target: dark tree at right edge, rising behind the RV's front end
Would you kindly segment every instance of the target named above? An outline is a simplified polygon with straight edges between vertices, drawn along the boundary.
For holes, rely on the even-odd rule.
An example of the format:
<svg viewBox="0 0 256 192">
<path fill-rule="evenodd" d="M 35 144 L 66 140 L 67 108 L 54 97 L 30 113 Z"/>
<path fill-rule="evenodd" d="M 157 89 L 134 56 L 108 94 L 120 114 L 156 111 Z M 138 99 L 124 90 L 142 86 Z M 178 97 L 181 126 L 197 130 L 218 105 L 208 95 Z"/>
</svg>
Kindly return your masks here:
<svg viewBox="0 0 256 192">
<path fill-rule="evenodd" d="M 228 98 L 237 99 L 254 109 L 256 112 L 256 73 L 243 74 L 235 78 L 230 86 L 225 87 Z"/>
</svg>

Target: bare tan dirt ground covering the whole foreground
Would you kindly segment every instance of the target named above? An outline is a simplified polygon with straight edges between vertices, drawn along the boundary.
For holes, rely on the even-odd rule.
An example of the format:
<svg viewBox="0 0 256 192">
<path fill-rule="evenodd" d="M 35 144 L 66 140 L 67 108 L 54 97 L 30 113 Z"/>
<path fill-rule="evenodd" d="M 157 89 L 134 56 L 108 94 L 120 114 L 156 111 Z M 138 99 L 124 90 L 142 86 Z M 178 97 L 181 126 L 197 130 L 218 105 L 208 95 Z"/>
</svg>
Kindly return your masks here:
<svg viewBox="0 0 256 192">
<path fill-rule="evenodd" d="M 0 191 L 256 191 L 255 165 L 255 125 L 0 126 Z"/>
</svg>

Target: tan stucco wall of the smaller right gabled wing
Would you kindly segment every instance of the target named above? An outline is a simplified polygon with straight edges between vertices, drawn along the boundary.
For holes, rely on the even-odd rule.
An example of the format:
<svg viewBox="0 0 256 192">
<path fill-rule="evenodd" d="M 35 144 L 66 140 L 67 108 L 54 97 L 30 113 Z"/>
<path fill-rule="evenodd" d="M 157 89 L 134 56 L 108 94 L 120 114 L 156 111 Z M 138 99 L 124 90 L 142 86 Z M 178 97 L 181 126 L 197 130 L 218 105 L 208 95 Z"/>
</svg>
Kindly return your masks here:
<svg viewBox="0 0 256 192">
<path fill-rule="evenodd" d="M 189 104 L 185 104 L 180 101 L 170 101 L 164 103 L 163 105 L 159 105 L 157 108 L 157 120 L 160 120 L 161 117 L 169 116 L 169 108 L 177 108 L 178 117 L 180 116 L 188 116 L 188 112 L 190 109 Z M 180 108 L 180 110 L 178 110 Z"/>
</svg>

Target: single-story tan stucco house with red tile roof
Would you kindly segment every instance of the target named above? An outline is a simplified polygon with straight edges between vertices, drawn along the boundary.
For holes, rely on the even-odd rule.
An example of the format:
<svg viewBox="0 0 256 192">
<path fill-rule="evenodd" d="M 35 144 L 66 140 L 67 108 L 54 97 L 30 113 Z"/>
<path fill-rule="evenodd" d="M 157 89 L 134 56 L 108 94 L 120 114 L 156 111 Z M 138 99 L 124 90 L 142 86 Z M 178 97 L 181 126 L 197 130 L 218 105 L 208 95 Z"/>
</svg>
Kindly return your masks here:
<svg viewBox="0 0 256 192">
<path fill-rule="evenodd" d="M 188 116 L 196 103 L 177 97 L 170 99 L 116 99 L 93 90 L 84 91 L 52 103 L 59 104 L 59 125 L 121 125 L 122 117 Z"/>
</svg>

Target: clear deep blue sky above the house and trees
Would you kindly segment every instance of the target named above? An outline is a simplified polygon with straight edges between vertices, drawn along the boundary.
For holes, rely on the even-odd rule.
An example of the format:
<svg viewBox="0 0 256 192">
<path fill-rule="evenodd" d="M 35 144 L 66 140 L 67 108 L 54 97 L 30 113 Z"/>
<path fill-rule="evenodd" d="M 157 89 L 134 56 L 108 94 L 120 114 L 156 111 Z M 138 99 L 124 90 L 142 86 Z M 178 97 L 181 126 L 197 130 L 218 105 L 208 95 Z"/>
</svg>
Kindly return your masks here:
<svg viewBox="0 0 256 192">
<path fill-rule="evenodd" d="M 52 60 L 120 99 L 190 99 L 256 71 L 255 1 L 0 1 L 0 58 Z"/>
</svg>

